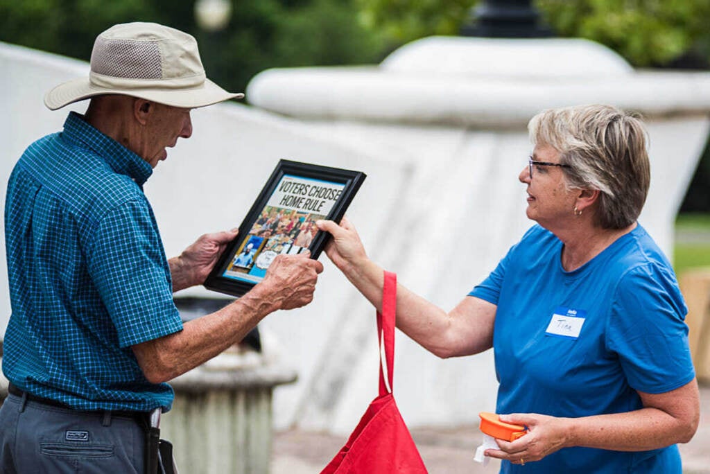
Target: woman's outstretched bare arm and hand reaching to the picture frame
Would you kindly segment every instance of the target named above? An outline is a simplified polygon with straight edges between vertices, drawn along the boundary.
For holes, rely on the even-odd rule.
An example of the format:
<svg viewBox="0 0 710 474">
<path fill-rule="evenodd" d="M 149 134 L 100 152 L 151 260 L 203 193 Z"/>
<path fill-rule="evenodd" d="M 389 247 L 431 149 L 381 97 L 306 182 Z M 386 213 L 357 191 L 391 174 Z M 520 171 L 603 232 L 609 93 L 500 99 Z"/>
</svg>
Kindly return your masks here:
<svg viewBox="0 0 710 474">
<path fill-rule="evenodd" d="M 317 221 L 317 226 L 333 236 L 325 249 L 330 260 L 381 310 L 384 272 L 367 257 L 354 226 L 345 218 L 340 226 L 333 221 Z M 397 285 L 397 327 L 441 358 L 491 348 L 495 319 L 496 305 L 483 299 L 466 297 L 447 314 L 403 285 Z"/>
</svg>

